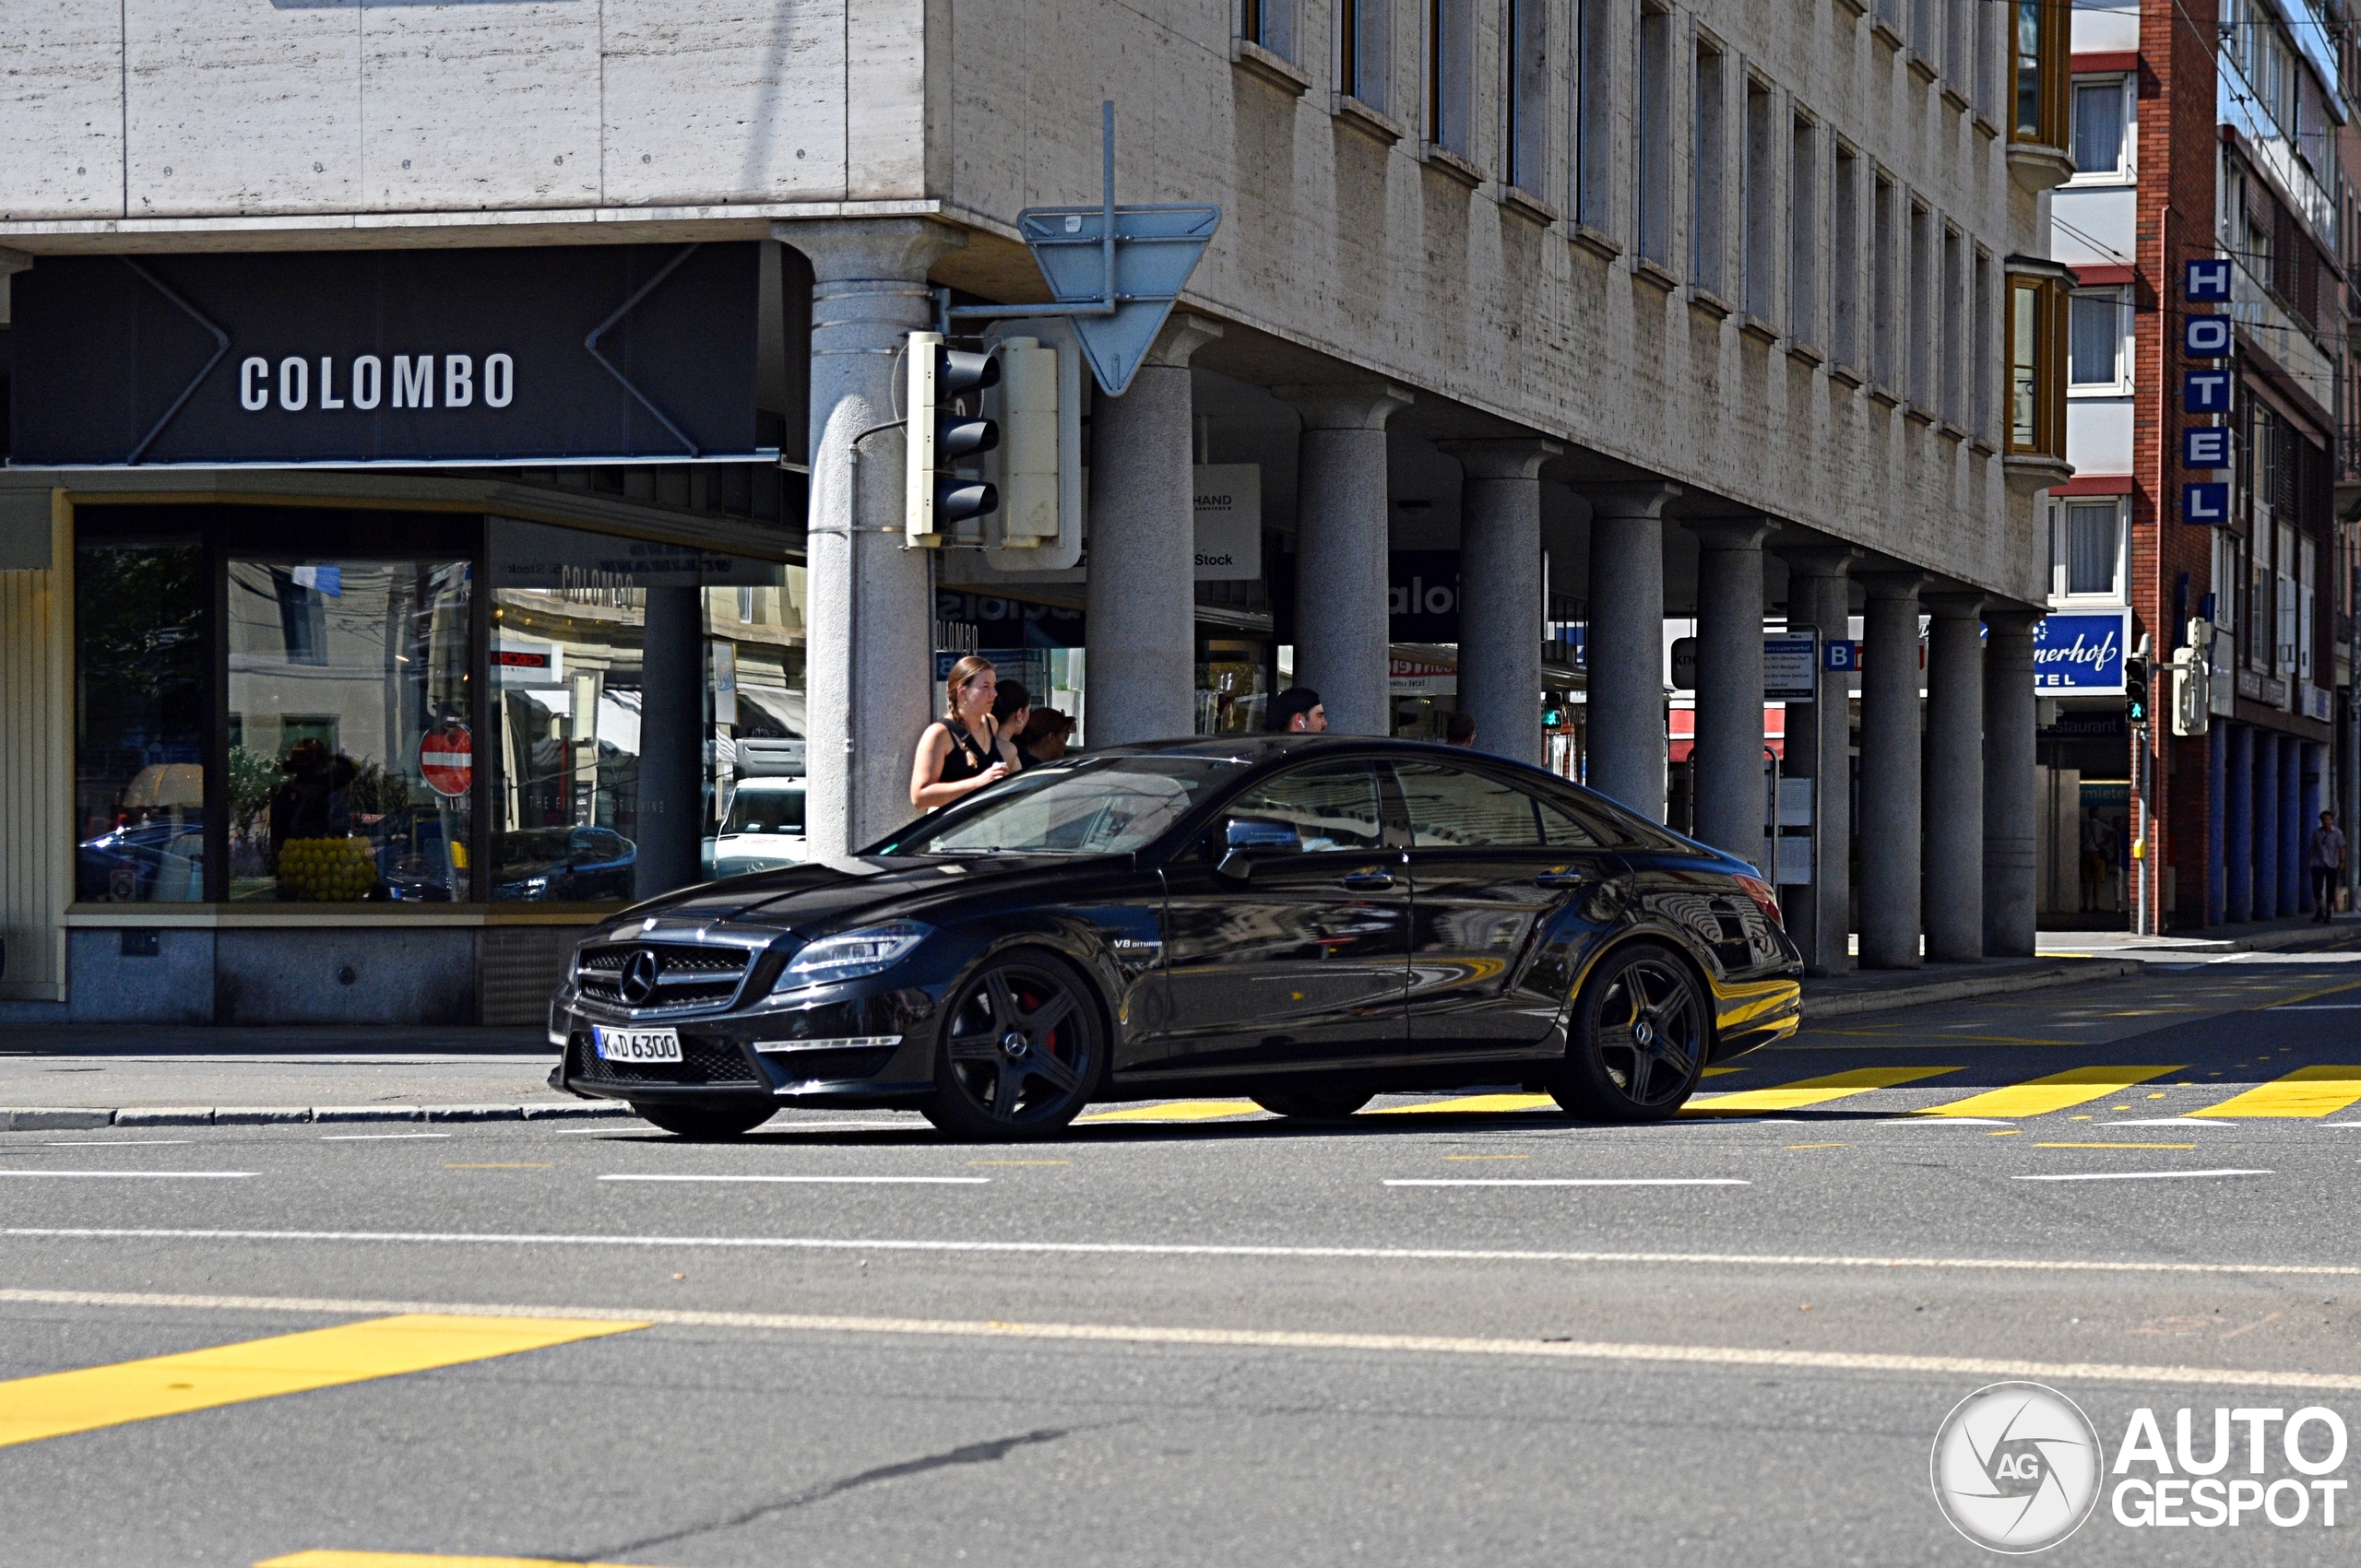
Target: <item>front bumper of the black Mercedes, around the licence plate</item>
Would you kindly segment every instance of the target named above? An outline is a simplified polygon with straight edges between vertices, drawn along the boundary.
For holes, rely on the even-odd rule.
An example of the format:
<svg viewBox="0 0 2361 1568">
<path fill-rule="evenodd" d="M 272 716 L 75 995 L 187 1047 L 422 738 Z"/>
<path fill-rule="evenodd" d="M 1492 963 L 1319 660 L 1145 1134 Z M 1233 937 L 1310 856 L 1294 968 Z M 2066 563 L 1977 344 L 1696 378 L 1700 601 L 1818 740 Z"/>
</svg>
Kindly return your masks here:
<svg viewBox="0 0 2361 1568">
<path fill-rule="evenodd" d="M 935 1013 L 928 987 L 885 978 L 812 987 L 727 1013 L 630 1018 L 586 1004 L 571 987 L 550 1006 L 550 1044 L 564 1046 L 552 1086 L 607 1100 L 781 1105 L 885 1105 L 935 1089 Z M 678 1030 L 680 1063 L 609 1063 L 593 1030 Z"/>
</svg>

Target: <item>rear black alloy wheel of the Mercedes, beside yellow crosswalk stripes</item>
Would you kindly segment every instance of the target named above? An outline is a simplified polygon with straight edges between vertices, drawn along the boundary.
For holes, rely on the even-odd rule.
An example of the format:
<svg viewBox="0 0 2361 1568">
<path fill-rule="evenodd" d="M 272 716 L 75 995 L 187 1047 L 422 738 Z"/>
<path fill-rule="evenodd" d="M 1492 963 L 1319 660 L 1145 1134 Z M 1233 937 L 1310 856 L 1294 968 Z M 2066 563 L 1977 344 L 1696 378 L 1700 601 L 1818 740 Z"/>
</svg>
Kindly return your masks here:
<svg viewBox="0 0 2361 1568">
<path fill-rule="evenodd" d="M 1653 942 L 1598 966 L 1575 999 L 1565 1067 L 1549 1096 L 1591 1122 L 1662 1122 L 1705 1077 L 1705 997 L 1688 966 Z"/>
</svg>

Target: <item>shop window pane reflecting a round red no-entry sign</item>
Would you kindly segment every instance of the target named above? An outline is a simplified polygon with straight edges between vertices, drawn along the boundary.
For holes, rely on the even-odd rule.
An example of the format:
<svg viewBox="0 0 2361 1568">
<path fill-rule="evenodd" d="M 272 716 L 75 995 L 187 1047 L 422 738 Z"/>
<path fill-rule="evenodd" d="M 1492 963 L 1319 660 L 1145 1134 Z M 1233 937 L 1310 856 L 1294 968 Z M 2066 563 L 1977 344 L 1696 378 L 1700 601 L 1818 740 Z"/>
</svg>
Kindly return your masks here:
<svg viewBox="0 0 2361 1568">
<path fill-rule="evenodd" d="M 470 897 L 467 562 L 229 562 L 229 897 Z"/>
</svg>

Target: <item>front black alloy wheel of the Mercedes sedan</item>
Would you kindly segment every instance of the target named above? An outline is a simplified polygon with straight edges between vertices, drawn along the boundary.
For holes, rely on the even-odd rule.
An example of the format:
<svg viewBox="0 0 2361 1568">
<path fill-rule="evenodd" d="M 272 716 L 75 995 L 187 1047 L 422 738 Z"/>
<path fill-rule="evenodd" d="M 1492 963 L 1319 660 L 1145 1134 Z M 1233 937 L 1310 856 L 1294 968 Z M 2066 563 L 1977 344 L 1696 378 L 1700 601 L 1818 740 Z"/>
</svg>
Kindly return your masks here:
<svg viewBox="0 0 2361 1568">
<path fill-rule="evenodd" d="M 1105 1060 L 1098 1004 L 1070 963 L 992 959 L 942 1013 L 926 1119 L 961 1138 L 1044 1138 L 1072 1122 Z"/>
</svg>

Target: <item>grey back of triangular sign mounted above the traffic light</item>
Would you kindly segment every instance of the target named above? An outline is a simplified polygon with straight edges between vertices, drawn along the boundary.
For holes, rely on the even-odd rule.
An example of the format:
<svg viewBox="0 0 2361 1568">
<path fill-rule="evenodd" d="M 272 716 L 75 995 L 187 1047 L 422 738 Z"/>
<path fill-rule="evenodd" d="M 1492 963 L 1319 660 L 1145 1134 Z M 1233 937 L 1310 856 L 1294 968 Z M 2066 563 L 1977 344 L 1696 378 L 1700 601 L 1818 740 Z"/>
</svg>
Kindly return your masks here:
<svg viewBox="0 0 2361 1568">
<path fill-rule="evenodd" d="M 1107 397 L 1131 385 L 1218 227 L 1221 208 L 1211 205 L 1114 208 L 1114 314 L 1067 316 Z M 1018 234 L 1058 305 L 1105 305 L 1105 208 L 1027 208 L 1018 213 Z"/>
</svg>

